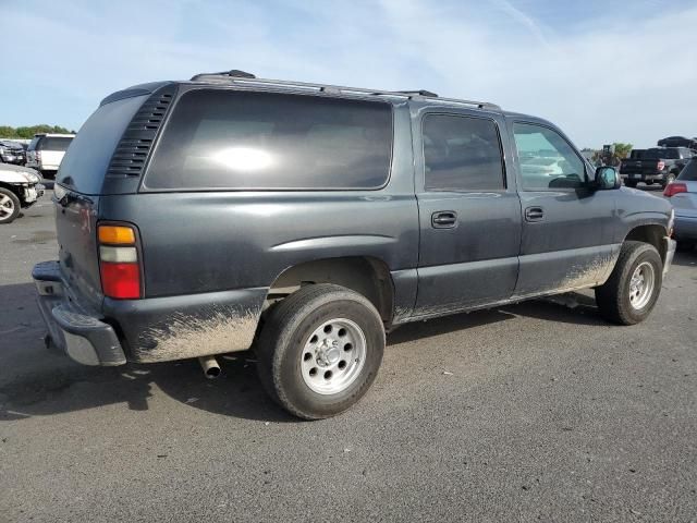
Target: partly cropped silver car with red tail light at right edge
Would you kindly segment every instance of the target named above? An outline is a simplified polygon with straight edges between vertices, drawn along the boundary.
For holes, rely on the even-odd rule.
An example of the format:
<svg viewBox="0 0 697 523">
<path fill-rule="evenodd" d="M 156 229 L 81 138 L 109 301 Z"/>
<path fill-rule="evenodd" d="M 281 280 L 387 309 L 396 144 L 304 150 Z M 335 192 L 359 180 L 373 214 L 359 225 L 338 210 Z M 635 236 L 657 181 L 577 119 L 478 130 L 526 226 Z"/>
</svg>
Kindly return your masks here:
<svg viewBox="0 0 697 523">
<path fill-rule="evenodd" d="M 697 158 L 681 171 L 677 179 L 663 192 L 675 209 L 675 239 L 682 251 L 697 244 Z"/>
</svg>

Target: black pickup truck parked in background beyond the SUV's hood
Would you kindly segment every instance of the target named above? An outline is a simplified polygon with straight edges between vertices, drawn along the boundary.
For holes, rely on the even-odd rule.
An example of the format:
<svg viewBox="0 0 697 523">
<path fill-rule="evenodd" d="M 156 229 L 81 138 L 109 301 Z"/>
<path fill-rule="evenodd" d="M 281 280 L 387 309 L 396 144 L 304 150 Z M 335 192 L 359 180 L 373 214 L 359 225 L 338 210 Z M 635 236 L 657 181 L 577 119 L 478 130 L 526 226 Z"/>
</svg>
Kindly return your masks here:
<svg viewBox="0 0 697 523">
<path fill-rule="evenodd" d="M 652 147 L 637 156 L 639 158 L 625 158 L 620 165 L 620 175 L 628 187 L 636 187 L 639 182 L 668 185 L 693 158 L 694 151 L 687 147 Z"/>
</svg>

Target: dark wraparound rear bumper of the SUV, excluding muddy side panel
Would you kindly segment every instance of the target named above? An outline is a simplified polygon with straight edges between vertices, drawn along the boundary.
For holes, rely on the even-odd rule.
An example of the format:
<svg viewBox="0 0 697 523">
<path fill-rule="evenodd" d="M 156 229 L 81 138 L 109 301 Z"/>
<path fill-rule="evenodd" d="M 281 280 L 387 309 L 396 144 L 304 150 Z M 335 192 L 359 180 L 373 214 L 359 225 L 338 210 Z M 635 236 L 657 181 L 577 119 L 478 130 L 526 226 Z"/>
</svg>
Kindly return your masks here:
<svg viewBox="0 0 697 523">
<path fill-rule="evenodd" d="M 53 343 L 83 365 L 114 366 L 126 363 L 117 333 L 106 324 L 71 303 L 63 292 L 57 262 L 34 267 L 37 303 Z"/>
</svg>

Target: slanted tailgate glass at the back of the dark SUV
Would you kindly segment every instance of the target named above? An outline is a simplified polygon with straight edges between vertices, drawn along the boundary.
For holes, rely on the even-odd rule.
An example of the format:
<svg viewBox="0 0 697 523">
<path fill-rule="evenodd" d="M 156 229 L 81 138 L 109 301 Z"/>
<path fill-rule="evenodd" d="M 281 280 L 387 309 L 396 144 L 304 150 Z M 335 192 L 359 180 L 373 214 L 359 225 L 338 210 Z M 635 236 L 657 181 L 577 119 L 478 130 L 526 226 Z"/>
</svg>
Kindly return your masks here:
<svg viewBox="0 0 697 523">
<path fill-rule="evenodd" d="M 99 194 L 121 135 L 147 96 L 124 98 L 97 109 L 65 153 L 58 171 L 58 183 L 78 193 Z"/>
</svg>

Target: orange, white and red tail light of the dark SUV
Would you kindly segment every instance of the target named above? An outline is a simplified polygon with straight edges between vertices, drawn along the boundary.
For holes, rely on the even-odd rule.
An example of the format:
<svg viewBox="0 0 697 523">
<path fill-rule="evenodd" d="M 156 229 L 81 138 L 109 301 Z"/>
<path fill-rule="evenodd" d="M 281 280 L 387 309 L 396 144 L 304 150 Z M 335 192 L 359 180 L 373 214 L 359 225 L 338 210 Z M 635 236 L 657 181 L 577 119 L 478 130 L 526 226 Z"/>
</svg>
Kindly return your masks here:
<svg viewBox="0 0 697 523">
<path fill-rule="evenodd" d="M 97 228 L 99 272 L 105 296 L 115 300 L 143 297 L 143 278 L 135 229 L 126 224 Z"/>
</svg>

